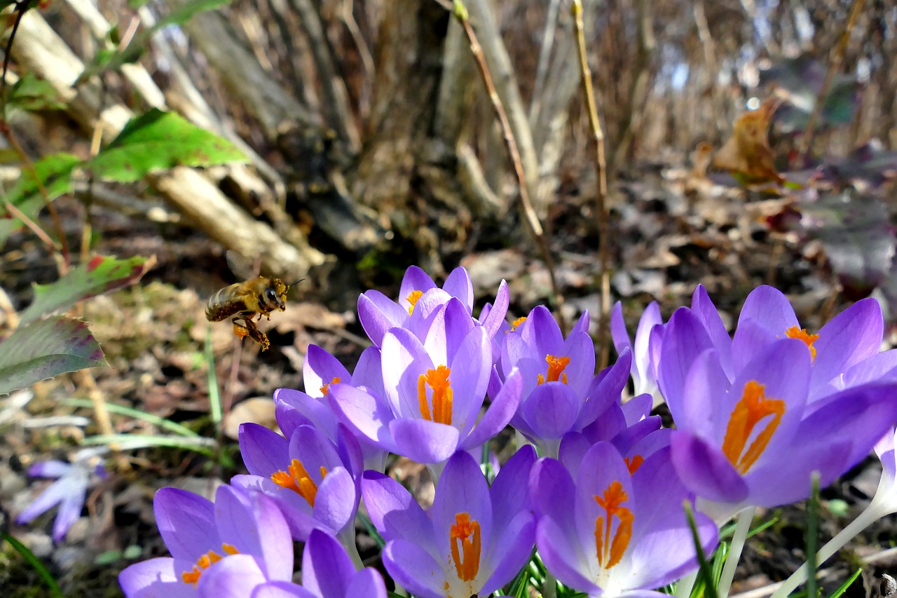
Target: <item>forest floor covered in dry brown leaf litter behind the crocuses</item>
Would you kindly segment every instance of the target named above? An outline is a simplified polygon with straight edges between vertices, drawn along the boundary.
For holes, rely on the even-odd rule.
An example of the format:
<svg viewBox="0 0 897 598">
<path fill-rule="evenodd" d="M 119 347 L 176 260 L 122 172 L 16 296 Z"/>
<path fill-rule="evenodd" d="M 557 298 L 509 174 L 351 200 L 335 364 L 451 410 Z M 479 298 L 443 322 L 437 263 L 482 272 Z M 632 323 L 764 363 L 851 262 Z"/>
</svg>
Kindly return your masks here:
<svg viewBox="0 0 897 598">
<path fill-rule="evenodd" d="M 562 191 L 563 201 L 558 201 L 547 223 L 558 256 L 556 274 L 564 295 L 561 312 L 569 322 L 588 309 L 597 334 L 593 206 L 580 189 Z M 837 295 L 819 247 L 771 233 L 763 224 L 765 215 L 778 209 L 777 202 L 777 198 L 740 189 L 695 188 L 684 171 L 668 167 L 646 165 L 637 181 L 620 183 L 613 202 L 612 290 L 614 301 L 623 302 L 630 330 L 649 301 L 657 300 L 666 318 L 690 302 L 698 283 L 707 287 L 730 325 L 747 293 L 760 284 L 785 292 L 808 330 L 818 330 L 823 321 L 840 312 L 846 302 Z M 64 203 L 60 209 L 66 209 Z M 29 525 L 18 525 L 13 519 L 48 485 L 48 481 L 29 478 L 29 465 L 65 460 L 85 435 L 99 433 L 91 409 L 65 402 L 88 398 L 90 384 L 85 384 L 82 374 L 59 376 L 37 384 L 28 395 L 0 399 L 0 433 L 4 435 L 0 530 L 8 529 L 46 563 L 66 596 L 105 597 L 121 595 L 117 583 L 121 569 L 165 554 L 152 516 L 154 492 L 176 486 L 208 495 L 222 480 L 241 472 L 235 440 L 239 422 L 274 423 L 272 393 L 282 387 L 302 389 L 302 363 L 309 344 L 325 348 L 352 369 L 365 341 L 355 306 L 345 297 L 357 297 L 366 288 L 342 289 L 341 297 L 328 297 L 310 286 L 298 286 L 286 312 L 274 313 L 270 322 L 261 325 L 272 344 L 262 353 L 248 341 L 241 345 L 230 323 L 205 321 L 208 296 L 234 281 L 221 248 L 187 227 L 149 224 L 101 209 L 94 216 L 101 232 L 97 251 L 119 257 L 154 254 L 159 261 L 140 285 L 83 305 L 80 315 L 91 322 L 109 361 L 109 367 L 87 374 L 95 380 L 96 392 L 110 404 L 179 422 L 218 441 L 213 458 L 176 448 L 113 457 L 109 478 L 91 488 L 83 516 L 65 541 L 55 543 L 50 535 L 55 510 Z M 478 305 L 491 300 L 501 279 L 507 279 L 509 316 L 516 318 L 549 295 L 548 273 L 535 256 L 535 251 L 504 247 L 466 255 L 460 265 L 474 279 Z M 20 309 L 30 301 L 32 282 L 53 279 L 52 260 L 27 235 L 14 236 L 0 259 L 0 286 Z M 410 265 L 409 261 L 390 266 L 401 272 Z M 387 280 L 379 290 L 396 296 L 398 282 L 398 278 Z M 0 322 L 0 331 L 2 327 Z M 206 339 L 211 339 L 213 372 L 225 414 L 220 435 L 209 417 Z M 893 336 L 889 334 L 887 340 L 892 342 Z M 4 410 L 13 399 L 21 400 L 21 407 Z M 113 415 L 112 423 L 117 433 L 161 434 L 159 428 L 138 418 Z M 420 474 L 414 468 L 404 470 L 412 471 L 406 476 Z M 869 458 L 823 491 L 822 541 L 868 504 L 879 472 L 877 461 Z M 420 484 L 425 492 L 423 477 Z M 804 506 L 757 516 L 755 524 L 775 523 L 748 541 L 735 594 L 784 579 L 805 557 Z M 888 550 L 897 538 L 895 523 L 893 516 L 876 523 L 826 563 L 824 588 L 831 591 L 866 562 L 862 583 L 852 585 L 848 595 L 876 595 L 880 574 L 897 564 L 897 556 Z M 5 544 L 0 550 L 0 595 L 48 595 L 33 570 Z"/>
</svg>

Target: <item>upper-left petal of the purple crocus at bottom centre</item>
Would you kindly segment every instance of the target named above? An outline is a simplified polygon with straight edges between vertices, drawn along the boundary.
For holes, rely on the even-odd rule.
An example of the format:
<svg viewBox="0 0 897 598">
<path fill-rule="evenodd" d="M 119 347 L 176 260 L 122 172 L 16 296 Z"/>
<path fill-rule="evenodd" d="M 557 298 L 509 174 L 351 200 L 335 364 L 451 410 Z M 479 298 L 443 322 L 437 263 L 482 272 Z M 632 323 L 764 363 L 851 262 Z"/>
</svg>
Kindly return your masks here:
<svg viewBox="0 0 897 598">
<path fill-rule="evenodd" d="M 385 540 L 431 539 L 430 518 L 395 479 L 377 471 L 365 471 L 361 477 L 361 494 L 371 523 Z"/>
</svg>

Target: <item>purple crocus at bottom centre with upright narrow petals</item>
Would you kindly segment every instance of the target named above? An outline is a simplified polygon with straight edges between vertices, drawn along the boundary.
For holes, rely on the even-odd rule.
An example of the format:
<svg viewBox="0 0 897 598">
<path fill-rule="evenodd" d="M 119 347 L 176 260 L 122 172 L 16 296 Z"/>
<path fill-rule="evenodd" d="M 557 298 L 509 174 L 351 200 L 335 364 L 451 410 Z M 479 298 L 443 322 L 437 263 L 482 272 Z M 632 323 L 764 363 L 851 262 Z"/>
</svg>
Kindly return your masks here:
<svg viewBox="0 0 897 598">
<path fill-rule="evenodd" d="M 535 460 L 532 447 L 521 448 L 490 488 L 475 459 L 455 453 L 436 486 L 431 514 L 396 480 L 365 472 L 361 492 L 387 541 L 389 575 L 421 598 L 486 596 L 507 584 L 533 550 L 527 479 Z"/>
</svg>

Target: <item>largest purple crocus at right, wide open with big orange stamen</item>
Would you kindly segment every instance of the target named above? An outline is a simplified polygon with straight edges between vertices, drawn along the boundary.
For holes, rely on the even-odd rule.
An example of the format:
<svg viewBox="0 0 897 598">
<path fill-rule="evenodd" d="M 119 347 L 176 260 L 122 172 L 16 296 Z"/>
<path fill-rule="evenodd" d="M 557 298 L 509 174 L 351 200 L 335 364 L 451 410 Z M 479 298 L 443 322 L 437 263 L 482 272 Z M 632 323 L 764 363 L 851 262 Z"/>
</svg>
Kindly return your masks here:
<svg viewBox="0 0 897 598">
<path fill-rule="evenodd" d="M 804 339 L 771 339 L 745 319 L 750 331 L 727 354 L 705 315 L 685 308 L 673 314 L 658 380 L 676 424 L 675 469 L 718 523 L 746 506 L 809 496 L 813 471 L 828 485 L 897 421 L 897 383 L 866 383 L 811 400 L 820 364 L 811 364 Z M 839 374 L 815 375 L 827 382 Z"/>
</svg>

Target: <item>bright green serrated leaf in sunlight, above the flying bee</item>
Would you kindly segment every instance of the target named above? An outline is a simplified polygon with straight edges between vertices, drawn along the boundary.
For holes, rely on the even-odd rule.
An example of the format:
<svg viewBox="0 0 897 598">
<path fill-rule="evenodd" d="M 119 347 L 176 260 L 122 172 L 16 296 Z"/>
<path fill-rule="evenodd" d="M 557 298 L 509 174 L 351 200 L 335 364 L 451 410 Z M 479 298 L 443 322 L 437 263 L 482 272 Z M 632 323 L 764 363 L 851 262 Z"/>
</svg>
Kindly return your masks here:
<svg viewBox="0 0 897 598">
<path fill-rule="evenodd" d="M 178 114 L 152 109 L 131 119 L 86 167 L 104 179 L 133 182 L 153 170 L 227 162 L 246 162 L 246 156 Z"/>
</svg>

